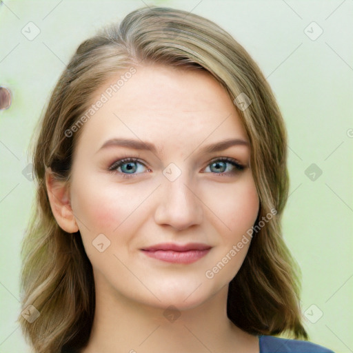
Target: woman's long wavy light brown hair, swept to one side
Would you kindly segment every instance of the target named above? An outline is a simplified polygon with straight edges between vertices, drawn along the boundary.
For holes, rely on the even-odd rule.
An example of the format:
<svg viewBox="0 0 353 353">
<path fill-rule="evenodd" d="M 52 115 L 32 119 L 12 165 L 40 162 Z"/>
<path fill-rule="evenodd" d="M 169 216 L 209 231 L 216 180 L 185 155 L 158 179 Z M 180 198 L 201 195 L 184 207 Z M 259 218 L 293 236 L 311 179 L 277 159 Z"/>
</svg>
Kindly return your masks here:
<svg viewBox="0 0 353 353">
<path fill-rule="evenodd" d="M 281 234 L 289 188 L 287 135 L 272 90 L 248 52 L 215 23 L 183 10 L 150 6 L 130 12 L 121 23 L 81 43 L 40 121 L 33 152 L 37 199 L 23 240 L 19 315 L 30 345 L 39 353 L 59 353 L 63 347 L 79 349 L 88 342 L 95 305 L 92 265 L 81 236 L 65 233 L 55 221 L 44 178 L 51 168 L 57 178 L 70 181 L 72 151 L 83 129 L 72 137 L 67 132 L 74 131 L 97 88 L 112 74 L 138 70 L 143 63 L 207 70 L 234 101 L 250 139 L 260 210 L 248 254 L 230 282 L 228 317 L 252 334 L 307 339 L 299 305 L 299 267 Z M 236 104 L 241 94 L 250 103 L 246 109 Z M 271 210 L 276 214 L 263 222 Z"/>
</svg>

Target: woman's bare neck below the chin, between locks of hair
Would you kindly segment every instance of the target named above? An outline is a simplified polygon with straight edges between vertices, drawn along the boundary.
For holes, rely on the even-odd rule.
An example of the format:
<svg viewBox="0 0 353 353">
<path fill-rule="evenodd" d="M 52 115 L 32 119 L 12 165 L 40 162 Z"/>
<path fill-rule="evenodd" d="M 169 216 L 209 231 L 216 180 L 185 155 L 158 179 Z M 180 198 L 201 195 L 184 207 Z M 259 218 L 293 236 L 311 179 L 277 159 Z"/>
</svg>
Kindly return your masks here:
<svg viewBox="0 0 353 353">
<path fill-rule="evenodd" d="M 152 307 L 112 292 L 96 278 L 94 323 L 81 353 L 259 353 L 258 337 L 228 319 L 228 285 L 208 301 L 181 311 L 170 305 Z"/>
</svg>

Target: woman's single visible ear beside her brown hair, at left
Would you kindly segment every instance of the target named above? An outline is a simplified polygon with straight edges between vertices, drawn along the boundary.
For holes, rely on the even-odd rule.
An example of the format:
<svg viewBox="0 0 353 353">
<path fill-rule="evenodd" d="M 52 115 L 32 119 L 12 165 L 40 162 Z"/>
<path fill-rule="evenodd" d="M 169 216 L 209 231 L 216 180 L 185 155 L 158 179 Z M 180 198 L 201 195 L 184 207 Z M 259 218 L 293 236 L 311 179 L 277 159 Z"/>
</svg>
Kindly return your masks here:
<svg viewBox="0 0 353 353">
<path fill-rule="evenodd" d="M 50 168 L 46 169 L 46 187 L 52 214 L 62 230 L 74 233 L 79 230 L 70 204 L 70 189 L 66 181 L 58 180 Z"/>
</svg>

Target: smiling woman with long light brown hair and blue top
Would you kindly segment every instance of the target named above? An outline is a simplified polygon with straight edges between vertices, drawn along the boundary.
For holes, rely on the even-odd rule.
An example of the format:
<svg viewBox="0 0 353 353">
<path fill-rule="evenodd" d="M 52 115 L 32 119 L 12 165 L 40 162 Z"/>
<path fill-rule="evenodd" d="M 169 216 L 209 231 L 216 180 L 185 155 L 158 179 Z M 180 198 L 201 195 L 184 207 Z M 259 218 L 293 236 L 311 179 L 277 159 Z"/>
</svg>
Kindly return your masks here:
<svg viewBox="0 0 353 353">
<path fill-rule="evenodd" d="M 211 21 L 142 8 L 84 41 L 34 149 L 34 350 L 332 353 L 299 340 L 286 153 L 263 74 Z"/>
</svg>

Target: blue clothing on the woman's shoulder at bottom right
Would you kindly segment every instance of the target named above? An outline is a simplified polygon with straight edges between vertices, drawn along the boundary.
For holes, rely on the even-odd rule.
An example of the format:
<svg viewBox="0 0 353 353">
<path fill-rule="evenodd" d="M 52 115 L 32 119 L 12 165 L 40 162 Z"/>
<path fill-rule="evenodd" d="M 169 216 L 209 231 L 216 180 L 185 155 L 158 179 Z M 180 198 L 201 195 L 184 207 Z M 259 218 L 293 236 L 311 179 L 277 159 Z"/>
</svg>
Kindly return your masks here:
<svg viewBox="0 0 353 353">
<path fill-rule="evenodd" d="M 259 336 L 260 353 L 334 353 L 332 350 L 308 341 Z"/>
</svg>

